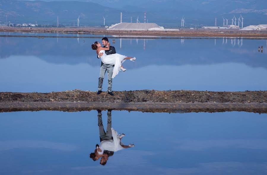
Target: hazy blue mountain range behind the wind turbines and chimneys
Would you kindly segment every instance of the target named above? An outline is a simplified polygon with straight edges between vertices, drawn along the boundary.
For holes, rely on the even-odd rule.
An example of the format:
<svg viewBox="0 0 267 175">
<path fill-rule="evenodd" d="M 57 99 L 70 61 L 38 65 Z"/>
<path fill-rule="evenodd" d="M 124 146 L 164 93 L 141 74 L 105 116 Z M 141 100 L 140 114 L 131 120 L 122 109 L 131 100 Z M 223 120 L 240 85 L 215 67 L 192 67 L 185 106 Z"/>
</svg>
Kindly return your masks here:
<svg viewBox="0 0 267 175">
<path fill-rule="evenodd" d="M 244 17 L 244 26 L 267 24 L 266 0 L 57 0 L 18 1 L 0 0 L 0 23 L 35 23 L 77 26 L 80 16 L 81 26 L 103 26 L 120 22 L 144 22 L 144 12 L 149 23 L 164 27 L 181 26 L 185 16 L 185 27 L 223 25 L 222 17 L 232 23 L 235 15 Z M 237 20 L 238 22 L 238 20 Z M 226 24 L 226 20 L 225 20 Z"/>
</svg>

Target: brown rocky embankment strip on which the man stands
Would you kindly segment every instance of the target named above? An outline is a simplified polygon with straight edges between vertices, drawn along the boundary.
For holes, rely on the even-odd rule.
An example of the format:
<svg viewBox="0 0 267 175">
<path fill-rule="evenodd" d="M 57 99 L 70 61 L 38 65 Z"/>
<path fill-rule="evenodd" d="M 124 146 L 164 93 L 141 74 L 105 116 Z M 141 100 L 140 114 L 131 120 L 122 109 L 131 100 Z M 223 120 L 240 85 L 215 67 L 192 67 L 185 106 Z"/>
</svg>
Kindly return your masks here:
<svg viewBox="0 0 267 175">
<path fill-rule="evenodd" d="M 107 92 L 67 90 L 50 93 L 0 93 L 0 111 L 83 111 L 115 109 L 143 112 L 267 113 L 267 91 L 214 92 L 194 90 L 134 90 Z"/>
</svg>

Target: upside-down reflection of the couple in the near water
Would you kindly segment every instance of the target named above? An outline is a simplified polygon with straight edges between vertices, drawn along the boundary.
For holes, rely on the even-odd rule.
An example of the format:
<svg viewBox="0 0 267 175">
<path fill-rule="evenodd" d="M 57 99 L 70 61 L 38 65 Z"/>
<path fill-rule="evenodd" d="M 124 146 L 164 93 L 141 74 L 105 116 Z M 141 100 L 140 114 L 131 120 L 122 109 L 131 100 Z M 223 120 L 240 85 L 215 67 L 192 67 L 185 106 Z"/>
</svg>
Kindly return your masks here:
<svg viewBox="0 0 267 175">
<path fill-rule="evenodd" d="M 123 139 L 125 134 L 119 135 L 117 131 L 115 131 L 111 127 L 111 110 L 108 110 L 107 112 L 106 132 L 102 123 L 101 110 L 97 110 L 97 112 L 100 144 L 96 144 L 96 149 L 90 154 L 90 158 L 94 161 L 100 159 L 100 164 L 106 165 L 107 160 L 110 156 L 114 154 L 114 152 L 119 151 L 121 149 L 134 147 L 134 144 L 124 145 L 121 140 Z"/>
</svg>

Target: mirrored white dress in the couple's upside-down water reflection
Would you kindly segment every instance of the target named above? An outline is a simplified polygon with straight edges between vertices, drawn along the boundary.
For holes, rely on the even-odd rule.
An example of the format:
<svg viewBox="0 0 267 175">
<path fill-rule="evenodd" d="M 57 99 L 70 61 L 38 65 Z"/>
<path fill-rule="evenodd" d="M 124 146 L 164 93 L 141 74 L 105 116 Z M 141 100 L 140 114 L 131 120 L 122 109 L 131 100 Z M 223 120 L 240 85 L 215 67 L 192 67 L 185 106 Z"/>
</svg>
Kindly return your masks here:
<svg viewBox="0 0 267 175">
<path fill-rule="evenodd" d="M 111 131 L 112 131 L 113 140 L 103 140 L 103 141 L 101 141 L 99 147 L 102 150 L 102 152 L 99 152 L 99 154 L 103 154 L 104 150 L 116 152 L 118 150 L 124 149 L 120 145 L 120 144 L 123 144 L 123 143 L 121 143 L 120 137 L 119 137 L 119 134 L 117 133 L 117 131 L 115 131 L 113 128 L 111 128 Z"/>
</svg>

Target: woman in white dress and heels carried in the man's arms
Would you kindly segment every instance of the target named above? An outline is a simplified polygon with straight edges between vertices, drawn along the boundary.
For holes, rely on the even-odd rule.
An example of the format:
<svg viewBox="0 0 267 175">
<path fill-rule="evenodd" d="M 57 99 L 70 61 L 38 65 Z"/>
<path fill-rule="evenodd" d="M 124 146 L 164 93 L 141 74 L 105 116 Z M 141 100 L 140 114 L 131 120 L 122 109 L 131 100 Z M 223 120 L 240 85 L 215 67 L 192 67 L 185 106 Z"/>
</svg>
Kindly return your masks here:
<svg viewBox="0 0 267 175">
<path fill-rule="evenodd" d="M 125 60 L 134 61 L 136 60 L 136 58 L 127 57 L 124 55 L 120 55 L 118 53 L 107 55 L 105 50 L 109 50 L 109 46 L 110 46 L 110 43 L 107 44 L 107 47 L 102 47 L 102 45 L 96 41 L 95 43 L 92 44 L 92 49 L 96 50 L 97 55 L 99 55 L 99 53 L 103 53 L 103 55 L 100 58 L 104 64 L 114 64 L 113 73 L 112 73 L 112 78 L 114 78 L 119 73 L 120 69 L 122 71 L 126 71 L 126 69 L 124 69 L 122 65 L 122 63 Z"/>
</svg>

